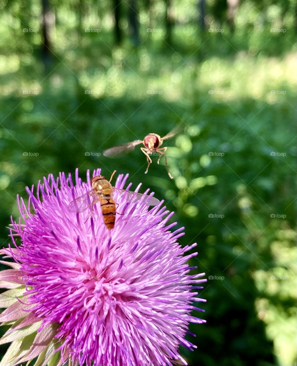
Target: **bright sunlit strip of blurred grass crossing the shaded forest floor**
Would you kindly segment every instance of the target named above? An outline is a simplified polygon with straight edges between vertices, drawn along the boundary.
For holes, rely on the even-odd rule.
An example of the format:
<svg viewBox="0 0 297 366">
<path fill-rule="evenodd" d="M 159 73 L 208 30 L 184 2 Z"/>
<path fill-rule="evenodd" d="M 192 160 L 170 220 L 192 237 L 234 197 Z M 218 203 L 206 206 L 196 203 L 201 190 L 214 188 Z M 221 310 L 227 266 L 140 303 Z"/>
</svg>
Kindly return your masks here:
<svg viewBox="0 0 297 366">
<path fill-rule="evenodd" d="M 138 55 L 132 55 L 126 61 L 119 52 L 115 52 L 113 57 L 96 69 L 84 67 L 78 60 L 83 69 L 77 74 L 79 85 L 90 90 L 93 98 L 158 96 L 171 102 L 182 102 L 191 100 L 194 92 L 199 93 L 204 101 L 210 98 L 228 102 L 254 98 L 274 104 L 282 102 L 285 94 L 294 94 L 297 84 L 294 53 L 288 53 L 283 59 L 235 54 L 227 59 L 211 57 L 198 64 L 194 58 L 186 63 L 182 59 L 175 62 L 173 54 L 170 57 L 172 61 L 167 60 L 166 66 L 162 55 L 149 55 L 146 48 L 141 48 Z M 139 63 L 136 63 L 137 59 Z M 9 76 L 7 82 L 4 79 L 1 95 L 19 95 L 23 90 L 37 90 L 41 94 L 40 82 L 44 74 L 37 73 L 29 80 L 19 70 L 20 62 L 19 56 L 14 54 L 0 59 L 0 74 Z M 33 63 L 34 59 L 30 62 Z M 76 59 L 72 57 L 64 63 L 66 66 L 60 64 L 47 79 L 53 88 L 67 88 L 68 85 L 71 93 L 69 81 L 74 81 L 74 75 L 70 70 Z M 68 76 L 65 78 L 65 75 Z"/>
</svg>

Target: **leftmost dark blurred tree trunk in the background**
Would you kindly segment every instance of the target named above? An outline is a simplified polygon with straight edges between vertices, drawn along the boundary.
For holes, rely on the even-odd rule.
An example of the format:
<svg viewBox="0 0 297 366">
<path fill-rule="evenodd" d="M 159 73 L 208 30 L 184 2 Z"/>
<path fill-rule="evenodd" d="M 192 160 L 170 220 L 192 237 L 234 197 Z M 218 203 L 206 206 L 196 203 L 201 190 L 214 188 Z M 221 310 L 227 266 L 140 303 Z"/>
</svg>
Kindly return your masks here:
<svg viewBox="0 0 297 366">
<path fill-rule="evenodd" d="M 48 0 L 42 0 L 42 60 L 45 65 L 51 63 L 51 42 L 49 34 L 55 23 L 55 14 L 49 9 Z"/>
</svg>

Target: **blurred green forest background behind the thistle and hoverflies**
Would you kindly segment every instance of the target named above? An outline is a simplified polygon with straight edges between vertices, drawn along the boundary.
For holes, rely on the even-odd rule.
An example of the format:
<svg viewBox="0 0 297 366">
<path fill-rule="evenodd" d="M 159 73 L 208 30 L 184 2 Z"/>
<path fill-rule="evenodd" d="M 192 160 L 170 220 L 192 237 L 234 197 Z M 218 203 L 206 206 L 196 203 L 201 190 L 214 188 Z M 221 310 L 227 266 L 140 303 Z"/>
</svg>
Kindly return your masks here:
<svg viewBox="0 0 297 366">
<path fill-rule="evenodd" d="M 129 172 L 198 243 L 207 324 L 189 365 L 296 365 L 296 5 L 1 0 L 0 236 L 48 173 Z M 181 131 L 144 174 L 103 150 Z M 37 155 L 38 154 L 38 155 Z M 199 314 L 200 315 L 200 314 Z M 0 347 L 5 352 L 7 345 Z"/>
</svg>

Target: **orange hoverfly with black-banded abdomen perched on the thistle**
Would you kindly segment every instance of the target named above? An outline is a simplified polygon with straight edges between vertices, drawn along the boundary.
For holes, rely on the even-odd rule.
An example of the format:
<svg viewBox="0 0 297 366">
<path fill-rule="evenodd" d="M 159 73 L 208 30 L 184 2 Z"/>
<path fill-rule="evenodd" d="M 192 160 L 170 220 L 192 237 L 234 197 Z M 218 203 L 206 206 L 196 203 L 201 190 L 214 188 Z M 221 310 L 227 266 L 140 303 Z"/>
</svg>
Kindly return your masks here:
<svg viewBox="0 0 297 366">
<path fill-rule="evenodd" d="M 110 182 L 115 172 L 116 171 L 112 173 L 109 181 L 103 175 L 94 176 L 91 180 L 92 189 L 82 196 L 74 199 L 74 201 L 70 202 L 68 205 L 68 210 L 70 212 L 83 212 L 88 207 L 93 207 L 95 203 L 100 202 L 104 224 L 109 230 L 111 230 L 114 228 L 115 225 L 117 205 L 117 203 L 115 203 L 115 201 L 112 199 L 114 192 L 117 192 L 118 194 L 125 197 L 127 201 L 131 199 L 131 202 L 146 199 L 146 203 L 149 206 L 156 206 L 160 203 L 159 199 L 155 197 L 148 198 L 146 194 L 135 193 L 132 191 L 126 191 L 123 189 L 112 187 Z M 91 203 L 89 202 L 88 197 L 91 197 L 93 199 Z"/>
</svg>

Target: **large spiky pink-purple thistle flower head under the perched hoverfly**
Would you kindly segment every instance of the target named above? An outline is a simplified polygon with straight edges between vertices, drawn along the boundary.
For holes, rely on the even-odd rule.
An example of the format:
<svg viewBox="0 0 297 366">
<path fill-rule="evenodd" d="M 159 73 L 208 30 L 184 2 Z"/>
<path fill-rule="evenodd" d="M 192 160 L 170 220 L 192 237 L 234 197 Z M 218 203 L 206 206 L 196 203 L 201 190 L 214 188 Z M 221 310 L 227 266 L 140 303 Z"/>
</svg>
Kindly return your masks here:
<svg viewBox="0 0 297 366">
<path fill-rule="evenodd" d="M 100 175 L 100 169 L 93 175 Z M 119 175 L 115 187 L 123 189 L 127 178 Z M 205 322 L 190 314 L 204 311 L 192 305 L 205 300 L 191 290 L 202 288 L 195 284 L 206 281 L 200 279 L 205 273 L 189 274 L 186 262 L 197 253 L 183 256 L 196 243 L 178 244 L 183 228 L 171 232 L 177 223 L 166 226 L 173 213 L 163 202 L 149 209 L 144 201 L 131 202 L 115 193 L 116 211 L 124 214 L 116 214 L 112 230 L 104 225 L 100 204 L 94 205 L 91 216 L 92 207 L 70 212 L 67 205 L 91 188 L 89 171 L 87 183 L 82 183 L 77 169 L 75 183 L 71 175 L 49 175 L 38 183 L 37 197 L 33 187 L 27 187 L 27 206 L 18 200 L 25 224 L 12 221 L 15 248 L 1 253 L 15 263 L 0 272 L 0 280 L 14 284 L 7 288 L 24 290 L 0 320 L 23 319 L 16 329 L 37 324 L 37 336 L 42 334 L 47 342 L 42 348 L 35 340 L 28 354 L 14 361 L 48 351 L 55 339 L 59 364 L 71 359 L 74 365 L 87 366 L 186 365 L 178 347 L 196 348 L 185 340 L 188 325 Z"/>
</svg>

